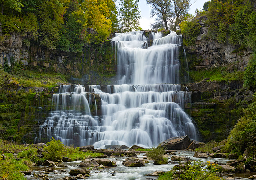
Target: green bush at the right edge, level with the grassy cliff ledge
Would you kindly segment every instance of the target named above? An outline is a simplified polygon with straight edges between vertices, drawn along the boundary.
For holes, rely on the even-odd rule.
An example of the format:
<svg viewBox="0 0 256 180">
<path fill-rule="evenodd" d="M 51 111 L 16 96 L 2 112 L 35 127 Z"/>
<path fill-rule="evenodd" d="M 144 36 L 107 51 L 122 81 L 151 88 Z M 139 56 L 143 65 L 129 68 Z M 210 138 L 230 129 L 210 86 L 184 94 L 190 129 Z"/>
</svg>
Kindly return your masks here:
<svg viewBox="0 0 256 180">
<path fill-rule="evenodd" d="M 253 54 L 246 67 L 243 86 L 256 88 L 256 53 Z"/>
</svg>

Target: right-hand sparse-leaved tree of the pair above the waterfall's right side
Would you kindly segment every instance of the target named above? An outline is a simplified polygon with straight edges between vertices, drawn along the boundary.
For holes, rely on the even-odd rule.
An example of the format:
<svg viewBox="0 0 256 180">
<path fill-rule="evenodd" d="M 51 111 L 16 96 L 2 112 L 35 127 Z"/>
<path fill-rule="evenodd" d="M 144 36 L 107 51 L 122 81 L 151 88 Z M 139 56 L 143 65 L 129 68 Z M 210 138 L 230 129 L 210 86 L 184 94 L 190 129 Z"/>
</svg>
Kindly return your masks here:
<svg viewBox="0 0 256 180">
<path fill-rule="evenodd" d="M 173 30 L 176 31 L 177 25 L 183 21 L 185 15 L 188 13 L 190 7 L 190 0 L 173 0 L 173 3 L 173 9 L 176 19 L 173 25 Z"/>
</svg>

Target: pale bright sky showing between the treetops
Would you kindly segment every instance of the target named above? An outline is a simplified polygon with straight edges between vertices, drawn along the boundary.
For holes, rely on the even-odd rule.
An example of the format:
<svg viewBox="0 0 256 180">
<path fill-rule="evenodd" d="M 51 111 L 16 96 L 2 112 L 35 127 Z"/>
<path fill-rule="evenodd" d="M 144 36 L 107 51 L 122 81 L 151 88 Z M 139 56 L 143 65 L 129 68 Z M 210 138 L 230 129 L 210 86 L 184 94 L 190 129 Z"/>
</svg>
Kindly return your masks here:
<svg viewBox="0 0 256 180">
<path fill-rule="evenodd" d="M 190 6 L 190 10 L 189 13 L 192 15 L 195 15 L 195 9 L 203 9 L 203 4 L 209 0 L 190 0 L 190 4 L 192 4 Z M 119 6 L 119 2 L 120 0 L 116 1 L 116 6 Z M 150 24 L 153 24 L 155 22 L 155 17 L 150 18 L 150 11 L 152 8 L 150 8 L 147 3 L 146 0 L 139 0 L 138 2 L 139 5 L 139 10 L 140 10 L 140 15 L 141 15 L 141 19 L 140 19 L 140 27 L 143 30 L 146 29 L 151 29 L 150 28 Z"/>
</svg>

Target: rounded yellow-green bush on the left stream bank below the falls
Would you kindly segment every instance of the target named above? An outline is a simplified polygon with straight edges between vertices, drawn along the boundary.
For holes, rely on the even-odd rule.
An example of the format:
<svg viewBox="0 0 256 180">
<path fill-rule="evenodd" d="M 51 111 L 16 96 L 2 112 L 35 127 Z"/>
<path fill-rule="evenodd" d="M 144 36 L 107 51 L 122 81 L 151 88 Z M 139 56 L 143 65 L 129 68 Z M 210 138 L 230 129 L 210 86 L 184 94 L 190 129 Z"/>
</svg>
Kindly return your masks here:
<svg viewBox="0 0 256 180">
<path fill-rule="evenodd" d="M 61 143 L 60 139 L 55 140 L 53 137 L 50 142 L 47 142 L 47 146 L 43 148 L 46 152 L 43 154 L 45 159 L 48 160 L 61 160 L 65 155 L 65 147 Z"/>
</svg>

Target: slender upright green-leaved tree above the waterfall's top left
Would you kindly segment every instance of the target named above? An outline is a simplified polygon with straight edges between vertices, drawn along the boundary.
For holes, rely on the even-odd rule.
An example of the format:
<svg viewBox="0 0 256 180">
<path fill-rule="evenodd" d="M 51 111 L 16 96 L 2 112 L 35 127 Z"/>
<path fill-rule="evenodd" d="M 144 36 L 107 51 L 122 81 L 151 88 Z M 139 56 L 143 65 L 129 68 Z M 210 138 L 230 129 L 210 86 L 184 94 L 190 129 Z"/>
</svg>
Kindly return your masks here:
<svg viewBox="0 0 256 180">
<path fill-rule="evenodd" d="M 141 16 L 138 2 L 139 0 L 121 0 L 119 3 L 119 21 L 122 32 L 140 29 L 139 19 Z"/>
</svg>

